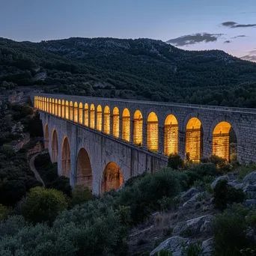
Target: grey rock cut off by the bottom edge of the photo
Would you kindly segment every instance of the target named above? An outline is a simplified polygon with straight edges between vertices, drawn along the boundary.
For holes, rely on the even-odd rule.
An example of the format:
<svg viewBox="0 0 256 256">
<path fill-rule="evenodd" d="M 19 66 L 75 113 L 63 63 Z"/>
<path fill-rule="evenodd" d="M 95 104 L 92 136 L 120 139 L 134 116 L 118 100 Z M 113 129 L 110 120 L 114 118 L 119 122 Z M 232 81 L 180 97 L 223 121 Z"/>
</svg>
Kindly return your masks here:
<svg viewBox="0 0 256 256">
<path fill-rule="evenodd" d="M 180 256 L 183 249 L 183 243 L 187 244 L 188 240 L 179 236 L 170 237 L 164 242 L 160 243 L 156 249 L 153 249 L 153 251 L 150 252 L 150 256 L 161 250 L 168 250 L 169 252 L 172 252 L 173 256 Z"/>
</svg>

